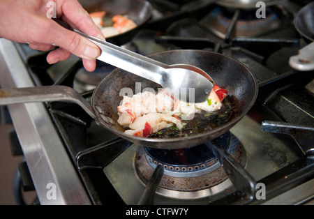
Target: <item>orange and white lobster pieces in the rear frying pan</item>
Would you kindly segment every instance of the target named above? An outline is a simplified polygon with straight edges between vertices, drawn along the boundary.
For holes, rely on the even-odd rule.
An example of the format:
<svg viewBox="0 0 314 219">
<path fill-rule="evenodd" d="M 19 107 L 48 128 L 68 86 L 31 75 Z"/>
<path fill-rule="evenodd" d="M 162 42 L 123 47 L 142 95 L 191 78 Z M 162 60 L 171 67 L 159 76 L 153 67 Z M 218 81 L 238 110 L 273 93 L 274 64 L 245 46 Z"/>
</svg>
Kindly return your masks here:
<svg viewBox="0 0 314 219">
<path fill-rule="evenodd" d="M 110 38 L 137 27 L 133 20 L 124 15 L 106 16 L 105 11 L 89 14 L 97 27 L 102 31 L 105 38 Z"/>
</svg>

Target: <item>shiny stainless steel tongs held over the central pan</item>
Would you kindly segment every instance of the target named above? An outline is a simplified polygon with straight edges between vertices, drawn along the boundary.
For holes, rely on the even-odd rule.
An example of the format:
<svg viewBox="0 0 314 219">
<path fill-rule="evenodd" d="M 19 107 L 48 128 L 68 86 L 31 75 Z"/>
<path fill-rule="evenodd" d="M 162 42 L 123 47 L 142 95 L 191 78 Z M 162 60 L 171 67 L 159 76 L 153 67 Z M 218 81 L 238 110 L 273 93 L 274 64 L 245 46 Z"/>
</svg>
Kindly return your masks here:
<svg viewBox="0 0 314 219">
<path fill-rule="evenodd" d="M 207 100 L 214 86 L 214 80 L 200 68 L 181 63 L 169 66 L 72 29 L 61 20 L 54 21 L 98 45 L 102 51 L 98 60 L 156 82 L 170 89 L 174 98 L 188 103 L 202 103 Z"/>
</svg>

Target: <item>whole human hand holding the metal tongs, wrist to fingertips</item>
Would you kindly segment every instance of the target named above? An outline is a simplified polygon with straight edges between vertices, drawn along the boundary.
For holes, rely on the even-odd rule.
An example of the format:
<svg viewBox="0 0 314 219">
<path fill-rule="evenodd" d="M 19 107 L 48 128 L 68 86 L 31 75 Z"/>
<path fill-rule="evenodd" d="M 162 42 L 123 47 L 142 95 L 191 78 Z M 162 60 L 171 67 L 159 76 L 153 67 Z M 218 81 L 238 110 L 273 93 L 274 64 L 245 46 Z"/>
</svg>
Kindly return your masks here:
<svg viewBox="0 0 314 219">
<path fill-rule="evenodd" d="M 51 1 L 51 0 L 50 0 Z M 57 50 L 47 55 L 47 62 L 57 63 L 75 54 L 83 60 L 84 68 L 94 71 L 100 49 L 90 40 L 61 27 L 47 17 L 49 0 L 0 0 L 0 37 L 18 43 L 29 43 L 33 50 Z M 54 0 L 57 18 L 96 38 L 105 40 L 103 33 L 77 0 Z"/>
</svg>

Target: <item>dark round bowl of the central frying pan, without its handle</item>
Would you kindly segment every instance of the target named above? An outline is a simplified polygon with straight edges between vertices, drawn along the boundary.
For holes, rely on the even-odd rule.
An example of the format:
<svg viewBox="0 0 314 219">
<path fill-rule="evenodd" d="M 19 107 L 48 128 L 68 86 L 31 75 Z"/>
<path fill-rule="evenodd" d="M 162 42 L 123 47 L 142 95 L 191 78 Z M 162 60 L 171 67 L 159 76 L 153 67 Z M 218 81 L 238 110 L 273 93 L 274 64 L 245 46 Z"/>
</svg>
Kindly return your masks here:
<svg viewBox="0 0 314 219">
<path fill-rule="evenodd" d="M 154 139 L 124 135 L 125 128 L 119 126 L 117 123 L 117 106 L 119 106 L 123 96 L 126 95 L 124 92 L 121 93 L 121 90 L 129 91 L 128 95 L 132 96 L 135 94 L 136 82 L 141 83 L 140 91 L 147 87 L 157 91 L 160 85 L 130 74 L 124 70 L 117 69 L 107 75 L 103 81 L 98 84 L 94 91 L 92 105 L 98 109 L 102 109 L 105 116 L 115 121 L 114 125 L 103 123 L 105 128 L 130 140 L 130 142 L 154 148 L 167 149 L 184 148 L 202 144 L 227 132 L 227 130 L 232 128 L 232 126 L 248 112 L 255 102 L 257 96 L 257 82 L 255 77 L 244 65 L 223 54 L 200 50 L 173 50 L 152 54 L 150 57 L 167 64 L 187 63 L 205 70 L 211 75 L 216 84 L 229 92 L 228 100 L 232 103 L 232 115 L 217 128 L 190 137 Z"/>
</svg>

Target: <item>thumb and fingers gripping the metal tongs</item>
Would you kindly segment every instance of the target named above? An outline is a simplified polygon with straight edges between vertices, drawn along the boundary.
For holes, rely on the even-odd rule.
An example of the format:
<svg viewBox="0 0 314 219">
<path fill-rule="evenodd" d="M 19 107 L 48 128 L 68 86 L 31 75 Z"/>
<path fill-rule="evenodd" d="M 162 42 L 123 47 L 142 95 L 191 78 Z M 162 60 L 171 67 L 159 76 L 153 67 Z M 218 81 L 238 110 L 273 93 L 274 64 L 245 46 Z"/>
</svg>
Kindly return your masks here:
<svg viewBox="0 0 314 219">
<path fill-rule="evenodd" d="M 64 22 L 67 22 L 71 27 L 79 29 L 84 33 L 105 40 L 103 33 L 101 33 L 100 29 L 98 29 L 89 16 L 89 13 L 82 8 L 78 1 L 57 0 L 56 3 L 58 17 L 61 17 Z M 87 70 L 94 71 L 96 68 L 96 59 L 101 53 L 98 46 L 87 38 L 61 27 L 53 20 L 49 20 L 49 22 L 49 36 L 47 36 L 45 40 L 60 48 L 48 54 L 47 62 L 57 63 L 58 61 L 63 61 L 68 59 L 72 53 L 83 59 L 84 67 Z M 48 48 L 51 49 L 51 47 L 36 44 L 30 45 L 30 47 L 45 51 L 47 51 Z"/>
</svg>

